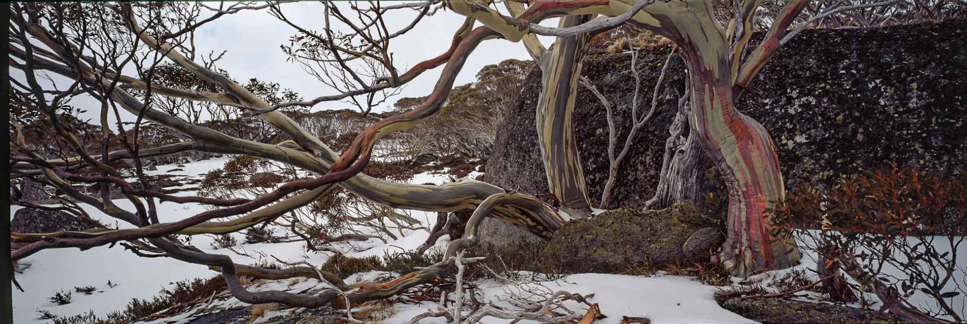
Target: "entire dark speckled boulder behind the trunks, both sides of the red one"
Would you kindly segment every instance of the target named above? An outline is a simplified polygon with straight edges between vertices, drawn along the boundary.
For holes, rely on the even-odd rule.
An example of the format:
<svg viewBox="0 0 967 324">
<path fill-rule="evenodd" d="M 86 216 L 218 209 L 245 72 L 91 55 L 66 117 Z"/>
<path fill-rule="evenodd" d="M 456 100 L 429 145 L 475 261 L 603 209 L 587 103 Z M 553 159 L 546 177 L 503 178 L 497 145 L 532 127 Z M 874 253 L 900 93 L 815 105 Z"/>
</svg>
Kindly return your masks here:
<svg viewBox="0 0 967 324">
<path fill-rule="evenodd" d="M 638 56 L 639 109 L 647 109 L 666 55 Z M 619 170 L 612 201 L 620 207 L 642 207 L 655 194 L 675 113 L 672 87 L 682 91 L 685 82 L 682 63 L 671 65 L 656 116 L 639 131 Z M 619 141 L 631 126 L 629 66 L 630 54 L 601 55 L 588 57 L 582 70 L 616 106 Z M 534 121 L 540 87 L 541 71 L 535 70 L 497 131 L 487 182 L 533 195 L 549 191 Z M 788 188 L 828 185 L 893 162 L 926 169 L 967 165 L 967 21 L 807 30 L 777 52 L 750 88 L 762 96 L 743 94 L 737 105 L 770 131 Z M 588 194 L 597 202 L 607 180 L 607 121 L 601 102 L 583 87 L 573 125 Z M 718 181 L 710 171 L 707 177 Z M 528 237 L 493 220 L 481 230 L 482 239 L 494 243 Z"/>
</svg>

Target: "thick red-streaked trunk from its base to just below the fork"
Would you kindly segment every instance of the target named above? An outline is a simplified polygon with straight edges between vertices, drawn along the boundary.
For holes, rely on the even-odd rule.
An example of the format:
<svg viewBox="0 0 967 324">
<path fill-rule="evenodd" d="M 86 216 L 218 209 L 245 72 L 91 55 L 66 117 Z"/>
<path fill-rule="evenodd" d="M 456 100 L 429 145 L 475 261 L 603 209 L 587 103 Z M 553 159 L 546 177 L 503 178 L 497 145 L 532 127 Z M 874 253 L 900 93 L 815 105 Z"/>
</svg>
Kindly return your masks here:
<svg viewBox="0 0 967 324">
<path fill-rule="evenodd" d="M 729 230 L 720 253 L 722 265 L 735 276 L 795 265 L 799 250 L 788 238 L 773 235 L 764 213 L 785 195 L 769 132 L 735 108 L 727 70 L 691 61 L 689 74 L 691 130 L 728 191 Z"/>
</svg>

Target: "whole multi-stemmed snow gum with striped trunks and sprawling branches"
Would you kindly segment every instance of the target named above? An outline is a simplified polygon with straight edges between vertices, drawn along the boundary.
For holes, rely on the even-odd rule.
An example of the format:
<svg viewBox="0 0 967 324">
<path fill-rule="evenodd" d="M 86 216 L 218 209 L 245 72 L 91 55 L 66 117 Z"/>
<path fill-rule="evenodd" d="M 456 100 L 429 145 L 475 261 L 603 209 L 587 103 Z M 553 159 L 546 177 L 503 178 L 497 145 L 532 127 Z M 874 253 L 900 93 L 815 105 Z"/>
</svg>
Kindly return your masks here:
<svg viewBox="0 0 967 324">
<path fill-rule="evenodd" d="M 345 308 L 366 300 L 396 295 L 418 284 L 430 283 L 456 271 L 454 257 L 479 241 L 477 227 L 494 217 L 543 237 L 572 218 L 590 215 L 591 202 L 577 155 L 571 116 L 581 72 L 581 61 L 589 40 L 597 33 L 628 23 L 650 30 L 677 44 L 689 72 L 688 121 L 691 132 L 718 167 L 728 188 L 728 235 L 720 255 L 732 274 L 748 274 L 788 267 L 799 252 L 788 237 L 773 235 L 764 210 L 783 198 L 782 176 L 769 132 L 735 106 L 736 97 L 747 91 L 749 82 L 777 51 L 783 37 L 807 0 L 790 0 L 771 20 L 771 27 L 755 48 L 748 46 L 756 23 L 759 0 L 736 0 L 726 21 L 717 19 L 705 0 L 529 0 L 504 1 L 503 10 L 489 1 L 425 1 L 385 6 L 320 4 L 325 28 L 314 32 L 285 15 L 285 3 L 235 4 L 213 8 L 203 3 L 31 3 L 13 4 L 10 31 L 10 67 L 22 72 L 22 82 L 12 84 L 20 105 L 50 121 L 58 136 L 60 151 L 45 154 L 12 141 L 11 177 L 26 177 L 59 189 L 73 202 L 88 204 L 128 229 L 89 229 L 12 236 L 16 260 L 45 249 L 80 248 L 124 243 L 139 253 L 172 257 L 207 265 L 220 271 L 232 294 L 252 304 L 282 303 L 296 307 L 334 305 Z M 352 14 L 342 11 L 349 8 Z M 391 40 L 438 10 L 465 16 L 454 30 L 450 48 L 409 69 L 396 67 Z M 410 24 L 391 31 L 386 14 L 416 11 Z M 293 46 L 283 49 L 294 60 L 320 78 L 337 94 L 311 99 L 283 98 L 270 102 L 263 95 L 226 76 L 213 67 L 212 57 L 196 55 L 194 32 L 221 16 L 243 11 L 267 11 L 298 31 Z M 202 18 L 202 12 L 210 15 Z M 557 27 L 540 23 L 560 17 Z M 338 23 L 342 29 L 337 30 Z M 475 26 L 477 25 L 477 26 Z M 544 47 L 537 35 L 555 37 Z M 373 147 L 395 132 L 405 132 L 438 115 L 454 88 L 454 80 L 485 40 L 522 42 L 542 69 L 542 90 L 537 124 L 542 161 L 551 194 L 560 202 L 555 208 L 523 193 L 505 190 L 477 180 L 462 180 L 442 186 L 398 183 L 362 173 L 372 157 Z M 137 75 L 125 75 L 125 71 Z M 153 82 L 156 67 L 177 67 L 206 87 Z M 441 67 L 433 90 L 414 108 L 373 122 L 342 152 L 334 151 L 302 125 L 286 116 L 290 107 L 307 108 L 320 102 L 348 100 L 363 113 L 394 94 L 394 89 L 414 80 L 428 69 Z M 315 68 L 315 69 L 313 69 Z M 52 87 L 39 81 L 46 74 L 69 80 L 69 87 Z M 100 124 L 104 145 L 100 149 L 82 146 L 75 129 L 61 122 L 66 100 L 91 95 L 100 103 Z M 291 140 L 263 143 L 229 135 L 160 109 L 153 97 L 177 98 L 179 102 L 203 102 L 235 109 L 259 119 Z M 350 99 L 351 98 L 351 99 Z M 171 108 L 171 107 L 168 107 Z M 168 112 L 165 112 L 168 111 Z M 122 112 L 136 116 L 131 124 L 111 124 L 107 116 Z M 15 120 L 15 118 L 12 118 Z M 179 142 L 155 148 L 136 143 L 110 151 L 108 129 L 132 132 L 150 121 L 178 134 Z M 11 124 L 16 135 L 20 126 Z M 12 138 L 18 138 L 12 136 Z M 126 137 L 121 137 L 122 141 Z M 140 159 L 183 151 L 240 154 L 282 163 L 308 173 L 253 198 L 220 199 L 175 196 L 152 185 L 144 175 Z M 112 161 L 130 160 L 139 185 L 132 185 Z M 84 172 L 81 172 L 84 170 Z M 93 170 L 93 171 L 92 171 Z M 87 194 L 76 184 L 98 184 L 100 194 Z M 119 186 L 123 198 L 112 198 L 108 185 Z M 292 210 L 305 207 L 334 186 L 368 202 L 426 211 L 473 211 L 464 234 L 454 239 L 440 262 L 405 274 L 388 283 L 349 289 L 333 274 L 305 266 L 266 269 L 234 263 L 230 257 L 200 251 L 177 235 L 224 234 L 272 222 Z M 122 208 L 114 200 L 131 202 Z M 175 222 L 160 222 L 157 202 L 202 203 L 207 211 Z M 65 207 L 82 213 L 79 207 Z M 249 291 L 240 275 L 256 278 L 317 277 L 334 285 L 320 294 L 281 291 Z"/>
</svg>

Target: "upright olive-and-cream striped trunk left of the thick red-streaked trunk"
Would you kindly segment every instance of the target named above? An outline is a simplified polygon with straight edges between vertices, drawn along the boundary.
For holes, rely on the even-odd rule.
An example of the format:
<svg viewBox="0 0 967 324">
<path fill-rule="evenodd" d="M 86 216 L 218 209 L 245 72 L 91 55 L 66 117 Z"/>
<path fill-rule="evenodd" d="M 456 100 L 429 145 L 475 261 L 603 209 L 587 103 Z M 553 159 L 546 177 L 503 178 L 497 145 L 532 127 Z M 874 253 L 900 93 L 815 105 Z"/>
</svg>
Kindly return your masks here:
<svg viewBox="0 0 967 324">
<path fill-rule="evenodd" d="M 588 21 L 590 15 L 561 18 L 561 27 Z M 591 36 L 582 33 L 558 38 L 552 49 L 541 57 L 541 97 L 538 101 L 537 128 L 541 159 L 547 174 L 550 193 L 561 202 L 561 209 L 572 217 L 591 214 L 591 206 L 581 169 L 571 116 L 577 95 L 581 60 L 587 52 Z"/>
</svg>

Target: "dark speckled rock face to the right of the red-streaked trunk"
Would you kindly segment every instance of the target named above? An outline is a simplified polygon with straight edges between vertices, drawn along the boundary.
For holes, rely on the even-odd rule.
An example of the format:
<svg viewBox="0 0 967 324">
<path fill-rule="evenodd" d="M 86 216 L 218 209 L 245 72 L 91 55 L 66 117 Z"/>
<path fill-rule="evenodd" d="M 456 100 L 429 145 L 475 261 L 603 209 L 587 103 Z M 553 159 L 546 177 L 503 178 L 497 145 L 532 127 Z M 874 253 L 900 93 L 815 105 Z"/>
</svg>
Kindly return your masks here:
<svg viewBox="0 0 967 324">
<path fill-rule="evenodd" d="M 789 187 L 967 165 L 967 21 L 803 33 L 751 88 L 763 97 L 739 107 L 773 135 Z"/>
</svg>

